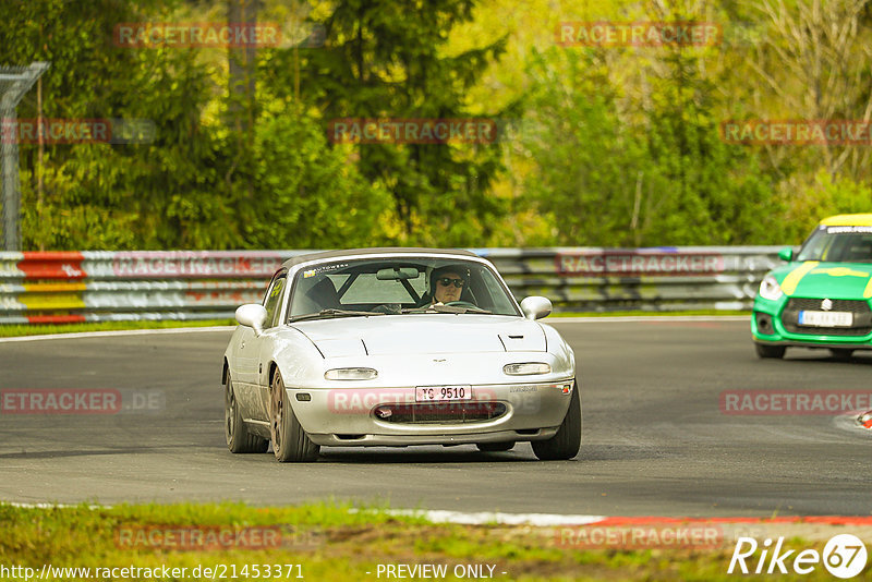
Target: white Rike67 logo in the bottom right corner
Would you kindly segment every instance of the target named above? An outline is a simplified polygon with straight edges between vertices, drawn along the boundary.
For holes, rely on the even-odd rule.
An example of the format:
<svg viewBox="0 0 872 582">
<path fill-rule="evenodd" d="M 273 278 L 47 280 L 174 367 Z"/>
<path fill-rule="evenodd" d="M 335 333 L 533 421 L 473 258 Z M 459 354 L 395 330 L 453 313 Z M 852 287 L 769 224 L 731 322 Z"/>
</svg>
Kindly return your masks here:
<svg viewBox="0 0 872 582">
<path fill-rule="evenodd" d="M 848 579 L 865 568 L 865 545 L 856 535 L 839 534 L 831 537 L 824 546 L 823 555 L 816 549 L 803 549 L 797 554 L 796 549 L 785 550 L 783 546 L 784 537 L 778 537 L 774 546 L 772 539 L 764 539 L 762 551 L 756 557 L 756 539 L 739 537 L 727 573 L 786 574 L 792 570 L 797 574 L 810 574 L 823 563 L 834 577 Z"/>
</svg>

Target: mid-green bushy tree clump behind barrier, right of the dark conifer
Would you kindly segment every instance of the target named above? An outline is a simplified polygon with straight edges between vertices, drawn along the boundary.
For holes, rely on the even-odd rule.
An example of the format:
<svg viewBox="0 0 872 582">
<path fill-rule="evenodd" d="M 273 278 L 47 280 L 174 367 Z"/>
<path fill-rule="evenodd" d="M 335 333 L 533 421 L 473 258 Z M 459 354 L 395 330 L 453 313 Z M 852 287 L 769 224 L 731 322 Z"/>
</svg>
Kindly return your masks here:
<svg viewBox="0 0 872 582">
<path fill-rule="evenodd" d="M 639 246 L 765 238 L 758 218 L 771 180 L 746 149 L 719 140 L 715 88 L 695 75 L 695 62 L 674 54 L 668 76 L 647 78 L 647 105 L 631 101 L 633 110 L 623 111 L 602 50 L 552 49 L 531 66 L 535 129 L 524 142 L 537 168 L 528 192 L 554 217 L 555 242 Z"/>
</svg>

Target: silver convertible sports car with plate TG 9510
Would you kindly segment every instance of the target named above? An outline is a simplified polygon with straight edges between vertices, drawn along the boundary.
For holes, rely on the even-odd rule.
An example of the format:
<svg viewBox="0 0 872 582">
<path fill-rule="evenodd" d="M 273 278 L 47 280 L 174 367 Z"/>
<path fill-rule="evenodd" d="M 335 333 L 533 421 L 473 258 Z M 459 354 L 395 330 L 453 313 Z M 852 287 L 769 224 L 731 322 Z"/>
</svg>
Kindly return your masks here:
<svg viewBox="0 0 872 582">
<path fill-rule="evenodd" d="M 581 445 L 572 349 L 545 298 L 519 305 L 465 251 L 367 248 L 301 255 L 263 304 L 237 310 L 223 359 L 233 452 L 313 461 L 319 447 L 529 440 L 540 459 Z"/>
</svg>

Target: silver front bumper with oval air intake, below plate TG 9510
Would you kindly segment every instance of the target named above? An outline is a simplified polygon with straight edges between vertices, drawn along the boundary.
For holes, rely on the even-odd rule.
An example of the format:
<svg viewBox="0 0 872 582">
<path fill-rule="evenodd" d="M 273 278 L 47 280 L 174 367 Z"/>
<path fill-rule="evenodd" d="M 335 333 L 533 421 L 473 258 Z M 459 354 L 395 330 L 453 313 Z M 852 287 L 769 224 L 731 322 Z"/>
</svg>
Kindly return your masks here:
<svg viewBox="0 0 872 582">
<path fill-rule="evenodd" d="M 439 403 L 415 402 L 414 386 L 286 390 L 313 442 L 375 447 L 547 439 L 559 428 L 577 389 L 572 378 L 471 388 L 472 400 Z M 380 417 L 386 409 L 391 416 Z"/>
</svg>

